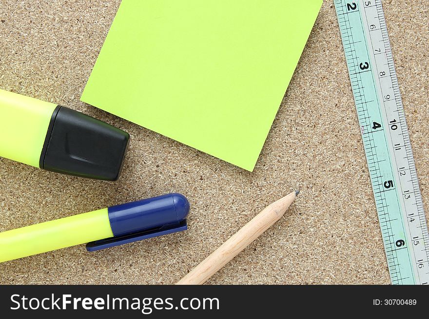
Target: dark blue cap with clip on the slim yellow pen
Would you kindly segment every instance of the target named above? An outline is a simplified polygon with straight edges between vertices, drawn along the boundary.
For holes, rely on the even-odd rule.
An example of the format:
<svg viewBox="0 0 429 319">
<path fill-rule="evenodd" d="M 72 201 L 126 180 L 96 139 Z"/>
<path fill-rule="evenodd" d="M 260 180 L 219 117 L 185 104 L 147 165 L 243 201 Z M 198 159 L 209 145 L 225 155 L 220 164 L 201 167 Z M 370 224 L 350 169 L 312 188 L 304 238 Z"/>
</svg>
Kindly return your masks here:
<svg viewBox="0 0 429 319">
<path fill-rule="evenodd" d="M 188 229 L 189 202 L 179 193 L 112 206 L 107 210 L 114 236 L 87 243 L 89 252 Z"/>
</svg>

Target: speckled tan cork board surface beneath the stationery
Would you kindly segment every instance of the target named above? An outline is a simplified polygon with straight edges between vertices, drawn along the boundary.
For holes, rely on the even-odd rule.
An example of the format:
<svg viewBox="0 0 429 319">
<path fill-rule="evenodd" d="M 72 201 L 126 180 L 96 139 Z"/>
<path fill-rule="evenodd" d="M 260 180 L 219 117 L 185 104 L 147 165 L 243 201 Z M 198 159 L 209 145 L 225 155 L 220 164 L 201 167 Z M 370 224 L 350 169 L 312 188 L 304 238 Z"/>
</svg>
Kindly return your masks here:
<svg viewBox="0 0 429 319">
<path fill-rule="evenodd" d="M 425 208 L 429 12 L 383 1 Z M 324 1 L 253 173 L 79 101 L 119 0 L 0 0 L 0 87 L 131 134 L 117 182 L 0 158 L 0 231 L 167 192 L 190 229 L 95 253 L 83 245 L 0 264 L 1 284 L 171 284 L 266 205 L 289 212 L 209 284 L 388 284 L 387 262 L 333 1 Z M 2 137 L 3 138 L 3 137 Z"/>
</svg>

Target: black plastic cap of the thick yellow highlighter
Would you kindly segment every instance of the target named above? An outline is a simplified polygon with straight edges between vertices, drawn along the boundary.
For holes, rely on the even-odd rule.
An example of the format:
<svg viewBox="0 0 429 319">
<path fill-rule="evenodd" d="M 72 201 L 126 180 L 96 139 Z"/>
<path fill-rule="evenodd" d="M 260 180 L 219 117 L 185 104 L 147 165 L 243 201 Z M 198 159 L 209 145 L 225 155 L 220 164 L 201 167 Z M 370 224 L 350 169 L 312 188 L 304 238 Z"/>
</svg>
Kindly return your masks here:
<svg viewBox="0 0 429 319">
<path fill-rule="evenodd" d="M 115 181 L 130 135 L 65 106 L 52 114 L 39 166 L 62 174 Z"/>
</svg>

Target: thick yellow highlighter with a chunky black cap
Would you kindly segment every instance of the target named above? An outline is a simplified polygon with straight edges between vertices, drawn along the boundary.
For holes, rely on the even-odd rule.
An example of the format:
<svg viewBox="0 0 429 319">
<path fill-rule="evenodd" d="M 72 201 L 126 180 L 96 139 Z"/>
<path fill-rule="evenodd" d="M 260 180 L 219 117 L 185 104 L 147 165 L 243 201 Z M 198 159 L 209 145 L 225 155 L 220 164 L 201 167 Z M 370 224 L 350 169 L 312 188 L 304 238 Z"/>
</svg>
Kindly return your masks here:
<svg viewBox="0 0 429 319">
<path fill-rule="evenodd" d="M 0 89 L 0 156 L 63 174 L 116 180 L 129 134 L 65 106 Z"/>
</svg>

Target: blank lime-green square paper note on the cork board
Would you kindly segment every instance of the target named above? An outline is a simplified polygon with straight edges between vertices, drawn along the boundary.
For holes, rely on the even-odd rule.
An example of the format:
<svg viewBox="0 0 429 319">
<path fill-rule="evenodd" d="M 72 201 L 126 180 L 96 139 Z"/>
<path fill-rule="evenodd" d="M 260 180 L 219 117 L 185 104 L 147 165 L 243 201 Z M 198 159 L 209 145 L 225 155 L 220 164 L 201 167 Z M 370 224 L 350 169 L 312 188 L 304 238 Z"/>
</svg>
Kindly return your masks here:
<svg viewBox="0 0 429 319">
<path fill-rule="evenodd" d="M 81 100 L 252 171 L 322 0 L 122 0 Z"/>
</svg>

